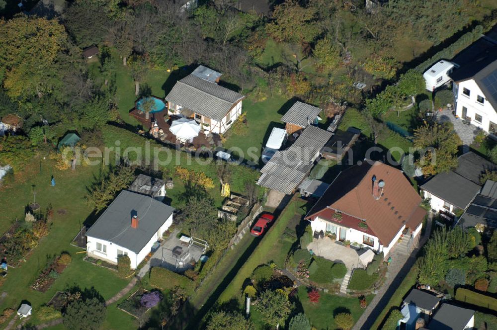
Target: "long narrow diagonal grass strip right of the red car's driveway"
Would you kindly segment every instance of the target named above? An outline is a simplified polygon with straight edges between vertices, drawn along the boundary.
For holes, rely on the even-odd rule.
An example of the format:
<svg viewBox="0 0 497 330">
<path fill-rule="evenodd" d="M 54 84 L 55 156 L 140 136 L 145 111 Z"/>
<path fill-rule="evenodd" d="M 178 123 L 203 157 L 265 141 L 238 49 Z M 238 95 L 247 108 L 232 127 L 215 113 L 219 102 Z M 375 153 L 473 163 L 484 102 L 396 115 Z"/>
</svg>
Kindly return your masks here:
<svg viewBox="0 0 497 330">
<path fill-rule="evenodd" d="M 281 215 L 276 219 L 274 225 L 264 235 L 262 241 L 252 252 L 247 262 L 245 262 L 245 264 L 240 268 L 237 275 L 226 287 L 226 290 L 220 295 L 220 303 L 229 301 L 233 298 L 239 298 L 239 293 L 242 290 L 243 282 L 246 278 L 250 277 L 253 270 L 258 265 L 267 263 L 268 261 L 274 259 L 274 253 L 278 252 L 277 250 L 275 250 L 275 246 L 279 241 L 281 234 L 296 214 L 304 214 L 304 210 L 301 208 L 304 204 L 305 202 L 300 199 L 292 199 L 292 201 L 288 203 Z"/>
</svg>

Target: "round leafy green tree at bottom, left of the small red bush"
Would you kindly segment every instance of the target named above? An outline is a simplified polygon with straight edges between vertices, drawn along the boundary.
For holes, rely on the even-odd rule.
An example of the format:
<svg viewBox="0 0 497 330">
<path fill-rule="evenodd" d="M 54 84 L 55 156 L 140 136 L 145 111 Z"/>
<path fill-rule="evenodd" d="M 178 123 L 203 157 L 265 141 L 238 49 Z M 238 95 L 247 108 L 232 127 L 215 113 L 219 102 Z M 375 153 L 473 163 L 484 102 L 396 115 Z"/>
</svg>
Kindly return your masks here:
<svg viewBox="0 0 497 330">
<path fill-rule="evenodd" d="M 292 304 L 285 294 L 266 290 L 260 295 L 255 308 L 262 315 L 265 323 L 277 327 L 285 323 L 292 311 Z"/>
</svg>

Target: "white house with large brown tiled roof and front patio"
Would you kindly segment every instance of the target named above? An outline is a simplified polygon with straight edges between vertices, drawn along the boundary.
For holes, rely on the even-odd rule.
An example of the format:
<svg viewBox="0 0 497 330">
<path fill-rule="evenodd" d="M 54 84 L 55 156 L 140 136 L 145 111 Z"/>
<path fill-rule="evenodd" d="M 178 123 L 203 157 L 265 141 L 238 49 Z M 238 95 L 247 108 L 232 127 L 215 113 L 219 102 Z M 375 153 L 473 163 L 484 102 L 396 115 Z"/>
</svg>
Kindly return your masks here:
<svg viewBox="0 0 497 330">
<path fill-rule="evenodd" d="M 402 237 L 415 238 L 426 211 L 421 197 L 402 171 L 381 162 L 365 161 L 342 171 L 305 219 L 313 232 L 331 233 L 383 252 Z"/>
</svg>

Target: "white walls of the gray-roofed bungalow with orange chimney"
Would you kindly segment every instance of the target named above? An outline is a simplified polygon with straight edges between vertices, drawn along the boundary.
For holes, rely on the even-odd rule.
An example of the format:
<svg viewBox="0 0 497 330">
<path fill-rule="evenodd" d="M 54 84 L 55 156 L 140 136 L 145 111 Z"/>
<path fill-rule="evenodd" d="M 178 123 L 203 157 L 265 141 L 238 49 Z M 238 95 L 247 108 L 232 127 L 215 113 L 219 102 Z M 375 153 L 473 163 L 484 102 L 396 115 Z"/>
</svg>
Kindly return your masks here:
<svg viewBox="0 0 497 330">
<path fill-rule="evenodd" d="M 105 260 L 109 263 L 117 264 L 117 259 L 119 257 L 118 250 L 122 251 L 123 254 L 129 256 L 131 260 L 131 269 L 135 269 L 140 262 L 145 258 L 147 254 L 151 252 L 152 246 L 160 238 L 162 238 L 164 232 L 169 229 L 172 225 L 172 214 L 167 218 L 166 222 L 159 228 L 159 230 L 150 238 L 149 242 L 143 247 L 139 253 L 133 252 L 127 248 L 123 248 L 111 242 L 97 239 L 94 237 L 86 237 L 86 253 L 88 256 L 95 257 L 97 259 Z M 140 224 L 138 224 L 140 226 Z M 97 249 L 97 243 L 102 245 L 102 250 Z M 105 248 L 103 248 L 105 246 Z M 105 251 L 103 251 L 105 249 Z"/>
</svg>

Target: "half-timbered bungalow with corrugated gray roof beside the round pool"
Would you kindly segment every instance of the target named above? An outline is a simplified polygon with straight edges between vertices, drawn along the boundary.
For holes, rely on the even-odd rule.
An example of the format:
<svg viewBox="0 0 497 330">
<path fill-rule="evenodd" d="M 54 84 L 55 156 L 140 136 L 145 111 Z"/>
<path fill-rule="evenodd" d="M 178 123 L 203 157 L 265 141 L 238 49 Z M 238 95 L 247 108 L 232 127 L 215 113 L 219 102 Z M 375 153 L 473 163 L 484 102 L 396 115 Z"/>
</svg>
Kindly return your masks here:
<svg viewBox="0 0 497 330">
<path fill-rule="evenodd" d="M 166 96 L 171 114 L 195 119 L 204 131 L 222 134 L 242 114 L 245 95 L 218 85 L 221 74 L 199 66 Z"/>
</svg>

